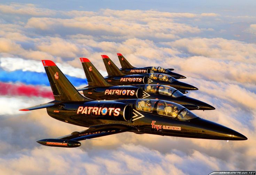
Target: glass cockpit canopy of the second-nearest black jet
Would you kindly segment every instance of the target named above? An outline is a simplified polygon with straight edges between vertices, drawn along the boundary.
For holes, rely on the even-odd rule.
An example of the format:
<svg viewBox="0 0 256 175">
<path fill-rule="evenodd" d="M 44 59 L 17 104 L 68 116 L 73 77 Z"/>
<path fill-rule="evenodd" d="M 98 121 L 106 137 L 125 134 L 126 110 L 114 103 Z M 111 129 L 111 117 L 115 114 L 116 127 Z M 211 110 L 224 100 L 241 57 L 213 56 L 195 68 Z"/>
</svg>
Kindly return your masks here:
<svg viewBox="0 0 256 175">
<path fill-rule="evenodd" d="M 171 97 L 183 97 L 185 96 L 179 90 L 165 85 L 145 85 L 145 91 L 150 93 L 159 93 L 161 95 L 167 95 Z"/>
</svg>

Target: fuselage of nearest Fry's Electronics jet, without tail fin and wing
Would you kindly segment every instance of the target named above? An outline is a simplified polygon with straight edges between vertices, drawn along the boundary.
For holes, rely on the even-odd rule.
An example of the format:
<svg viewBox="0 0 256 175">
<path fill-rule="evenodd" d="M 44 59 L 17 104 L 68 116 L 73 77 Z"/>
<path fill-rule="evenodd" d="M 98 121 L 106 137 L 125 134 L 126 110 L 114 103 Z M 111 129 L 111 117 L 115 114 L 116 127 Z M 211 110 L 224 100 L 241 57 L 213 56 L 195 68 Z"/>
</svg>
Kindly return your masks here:
<svg viewBox="0 0 256 175">
<path fill-rule="evenodd" d="M 246 140 L 242 134 L 195 116 L 183 106 L 175 103 L 186 111 L 183 114 L 188 118 L 167 116 L 165 101 L 151 100 L 152 109 L 145 111 L 140 108 L 147 99 L 117 100 L 117 101 L 90 101 L 65 102 L 58 106 L 47 108 L 49 116 L 74 125 L 90 127 L 100 124 L 124 124 L 134 129 L 130 132 L 137 134 L 156 134 L 166 136 L 205 138 L 216 140 Z M 166 104 L 166 106 L 164 106 Z M 163 110 L 164 109 L 164 110 Z M 183 111 L 184 112 L 184 111 Z M 182 112 L 181 112 L 182 113 Z M 180 113 L 180 114 L 181 114 Z M 178 113 L 178 115 L 180 115 Z M 181 115 L 182 116 L 182 115 Z M 97 133 L 92 133 L 97 134 Z"/>
</svg>

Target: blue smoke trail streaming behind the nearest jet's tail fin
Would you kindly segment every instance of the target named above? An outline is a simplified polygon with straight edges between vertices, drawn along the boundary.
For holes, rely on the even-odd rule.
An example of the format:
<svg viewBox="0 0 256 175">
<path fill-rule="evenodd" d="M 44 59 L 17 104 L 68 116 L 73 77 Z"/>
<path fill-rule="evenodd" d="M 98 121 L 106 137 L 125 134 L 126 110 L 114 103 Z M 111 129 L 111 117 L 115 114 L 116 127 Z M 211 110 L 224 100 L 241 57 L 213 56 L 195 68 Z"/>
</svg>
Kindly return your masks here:
<svg viewBox="0 0 256 175">
<path fill-rule="evenodd" d="M 73 84 L 73 86 L 80 86 L 87 84 L 87 79 L 71 77 L 65 75 L 68 80 Z M 2 82 L 22 82 L 26 85 L 45 85 L 50 86 L 49 80 L 46 73 L 43 72 L 30 72 L 16 70 L 8 72 L 0 69 L 0 81 Z"/>
</svg>

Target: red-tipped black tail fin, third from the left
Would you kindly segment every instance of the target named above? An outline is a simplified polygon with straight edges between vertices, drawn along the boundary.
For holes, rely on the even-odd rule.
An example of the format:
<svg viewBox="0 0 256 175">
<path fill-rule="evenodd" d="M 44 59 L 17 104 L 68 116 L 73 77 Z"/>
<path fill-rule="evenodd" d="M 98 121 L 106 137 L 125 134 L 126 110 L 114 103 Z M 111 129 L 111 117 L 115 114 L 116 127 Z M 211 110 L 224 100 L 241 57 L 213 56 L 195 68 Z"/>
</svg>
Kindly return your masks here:
<svg viewBox="0 0 256 175">
<path fill-rule="evenodd" d="M 118 69 L 118 67 L 113 63 L 113 61 L 111 61 L 111 59 L 107 55 L 101 55 L 101 57 L 103 59 L 109 76 L 125 75 Z"/>
</svg>

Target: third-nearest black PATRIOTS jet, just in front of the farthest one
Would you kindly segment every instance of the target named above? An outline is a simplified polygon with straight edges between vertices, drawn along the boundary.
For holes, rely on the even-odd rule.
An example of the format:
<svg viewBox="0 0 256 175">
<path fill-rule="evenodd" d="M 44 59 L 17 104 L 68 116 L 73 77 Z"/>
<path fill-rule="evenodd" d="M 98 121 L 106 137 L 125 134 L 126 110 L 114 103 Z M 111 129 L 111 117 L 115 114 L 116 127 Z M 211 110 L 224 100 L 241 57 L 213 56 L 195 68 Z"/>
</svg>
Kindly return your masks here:
<svg viewBox="0 0 256 175">
<path fill-rule="evenodd" d="M 198 90 L 198 88 L 192 85 L 178 81 L 170 75 L 163 73 L 125 75 L 118 69 L 118 67 L 111 61 L 111 59 L 107 55 L 101 55 L 101 57 L 108 72 L 108 76 L 105 77 L 105 79 L 107 79 L 107 81 L 109 81 L 113 85 L 157 84 L 171 86 L 178 90 Z M 133 76 L 134 78 L 132 78 Z M 138 80 L 141 80 L 137 81 L 137 78 Z M 146 83 L 142 83 L 145 81 Z"/>
</svg>

